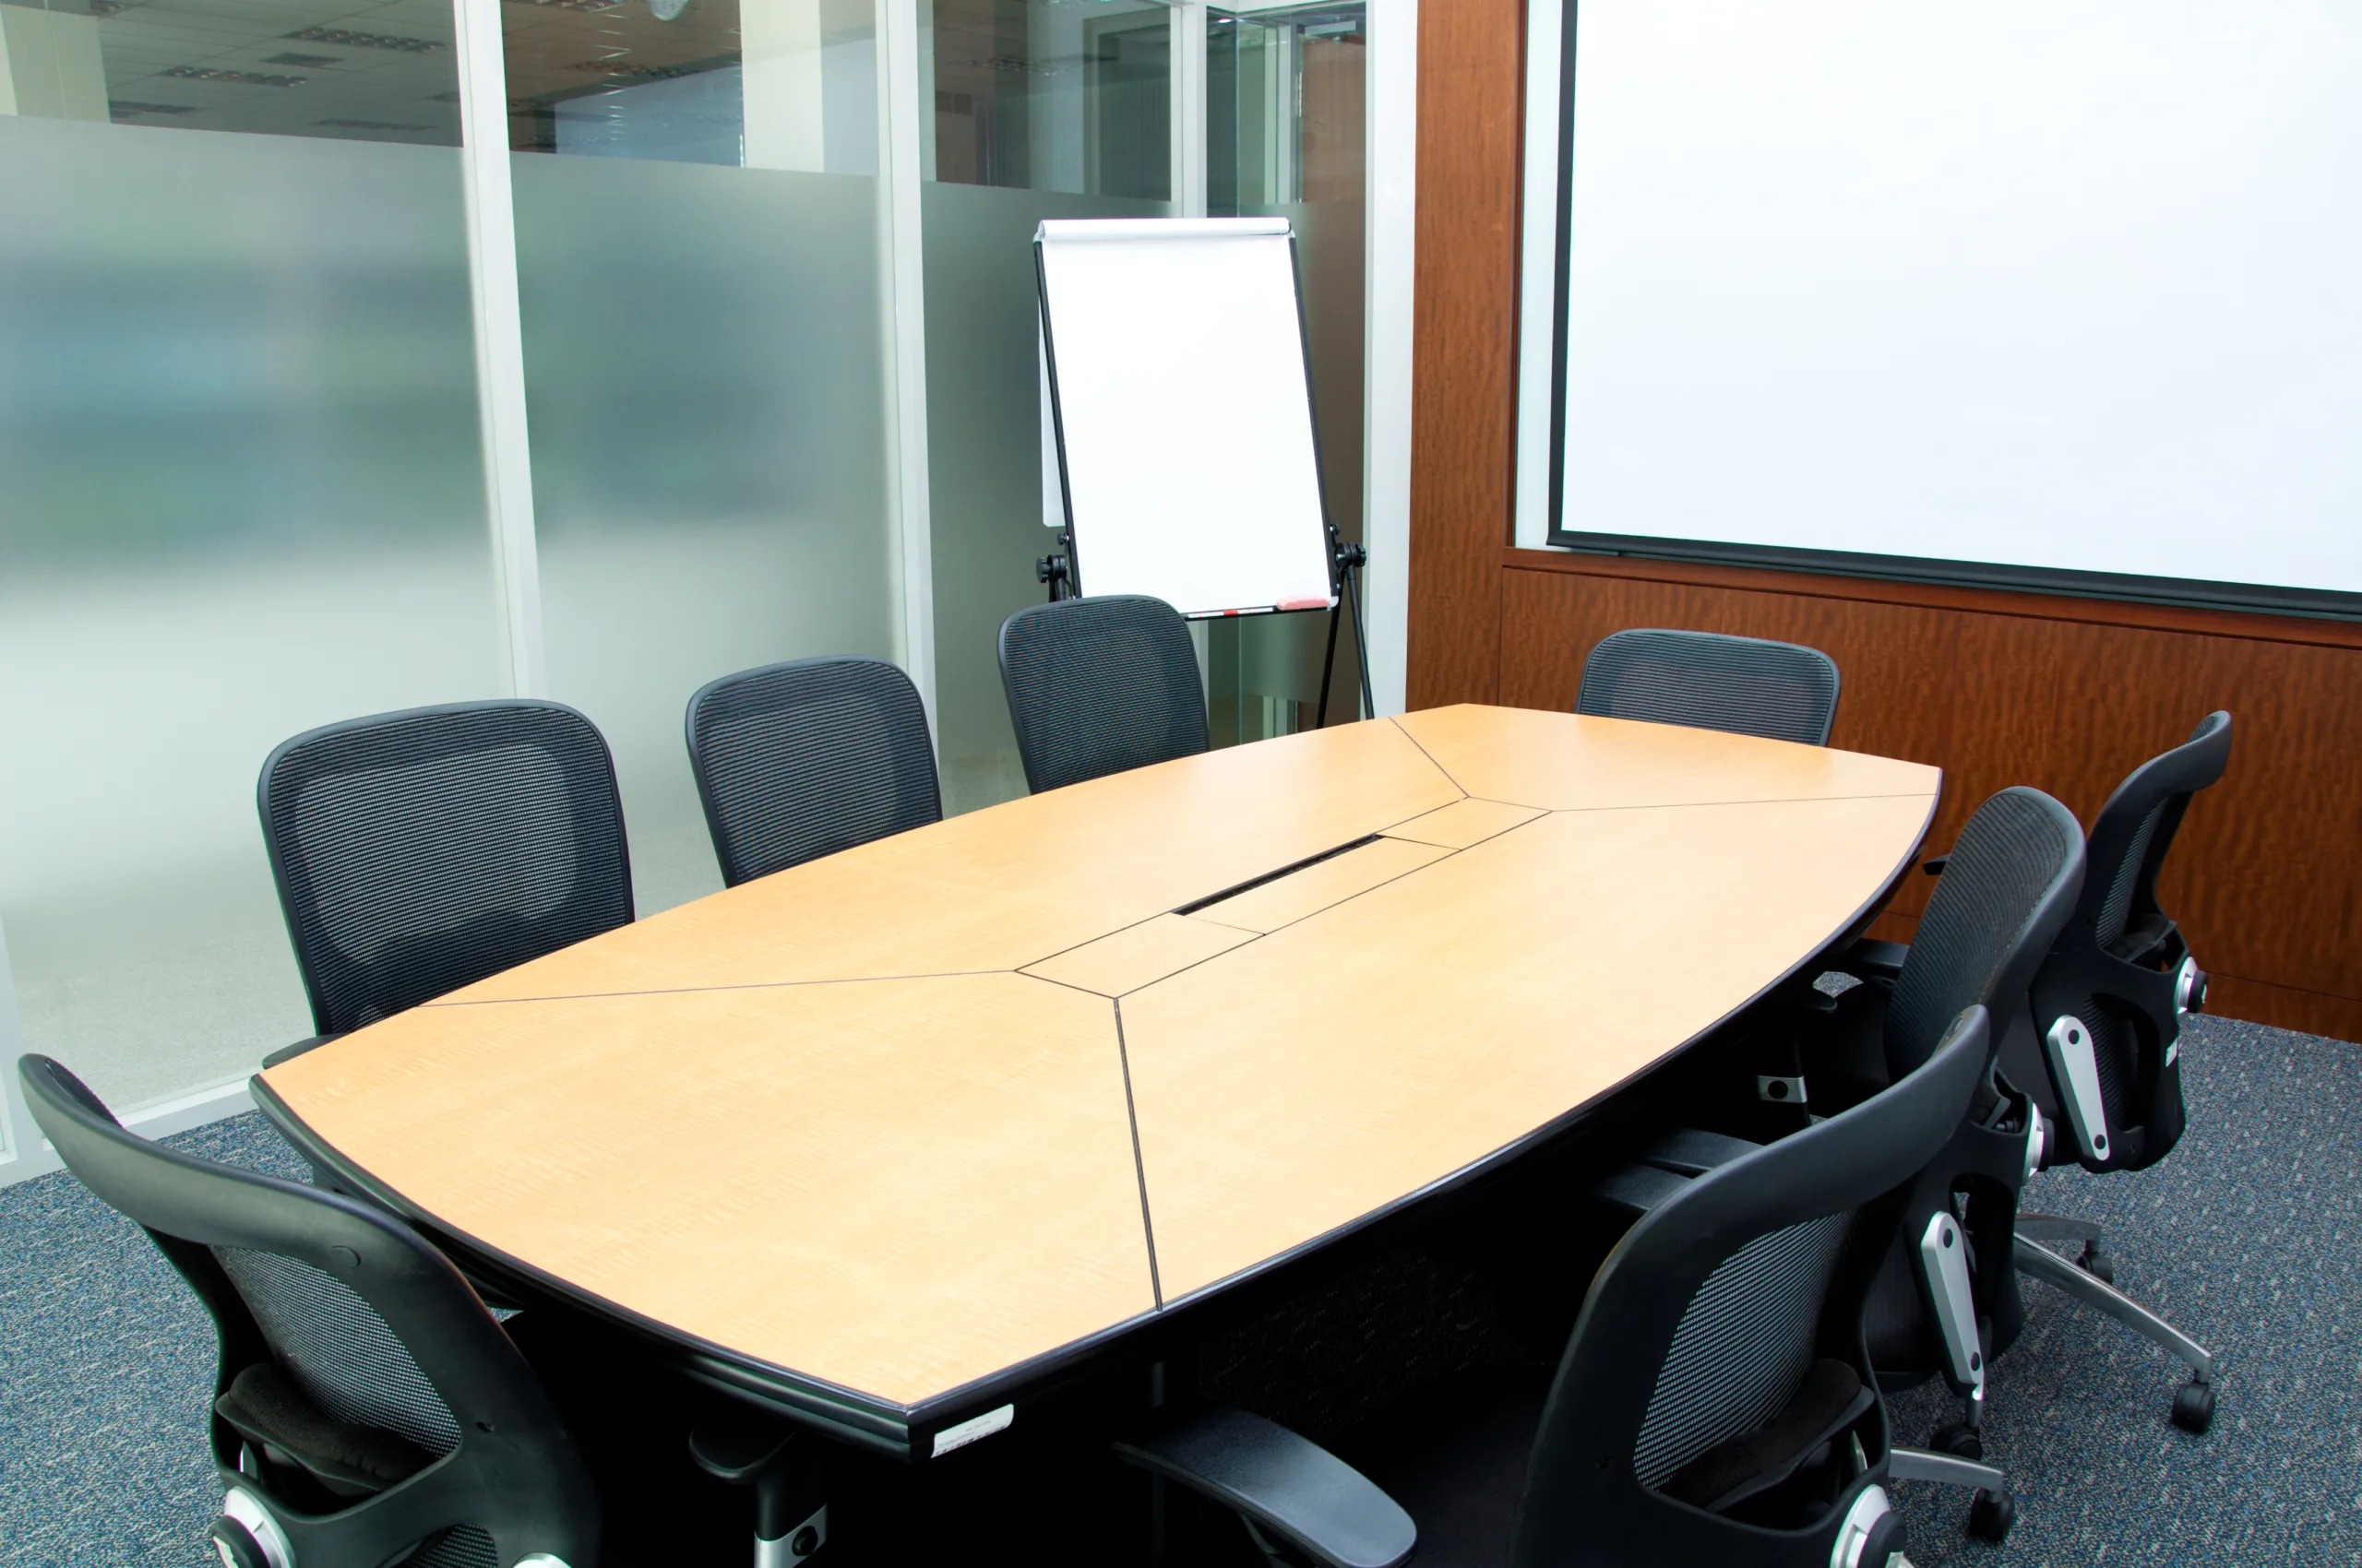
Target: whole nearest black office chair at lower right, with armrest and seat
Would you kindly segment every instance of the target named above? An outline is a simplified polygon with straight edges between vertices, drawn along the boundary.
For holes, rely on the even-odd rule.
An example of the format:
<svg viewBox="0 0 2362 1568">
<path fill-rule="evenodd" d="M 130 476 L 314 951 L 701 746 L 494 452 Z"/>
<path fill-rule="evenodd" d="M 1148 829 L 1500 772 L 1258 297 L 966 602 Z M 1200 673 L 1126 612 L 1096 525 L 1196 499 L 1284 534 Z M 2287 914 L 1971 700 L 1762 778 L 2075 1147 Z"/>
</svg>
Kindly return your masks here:
<svg viewBox="0 0 2362 1568">
<path fill-rule="evenodd" d="M 1890 1445 L 1864 1344 L 1897 1188 L 1960 1124 L 1989 1051 L 1970 1008 L 1838 1117 L 1712 1169 L 1675 1150 L 1609 1176 L 1635 1221 L 1554 1374 L 1469 1379 L 1346 1433 L 1344 1457 L 1242 1410 L 1117 1455 L 1233 1509 L 1273 1563 L 1901 1568 L 1887 1481 L 2001 1485 Z"/>
</svg>

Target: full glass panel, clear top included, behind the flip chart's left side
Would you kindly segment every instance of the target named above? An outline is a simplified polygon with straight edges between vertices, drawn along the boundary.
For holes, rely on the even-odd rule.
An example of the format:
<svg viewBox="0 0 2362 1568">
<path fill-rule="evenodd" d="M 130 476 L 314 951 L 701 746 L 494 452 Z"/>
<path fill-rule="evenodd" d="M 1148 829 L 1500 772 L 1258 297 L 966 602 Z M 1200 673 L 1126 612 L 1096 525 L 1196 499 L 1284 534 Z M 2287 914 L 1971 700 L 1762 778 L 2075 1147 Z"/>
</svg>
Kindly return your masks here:
<svg viewBox="0 0 2362 1568">
<path fill-rule="evenodd" d="M 1044 597 L 1035 224 L 1169 217 L 1172 21 L 1138 0 L 921 0 L 935 102 L 926 439 L 942 808 L 1025 793 L 994 638 Z M 928 80 L 926 73 L 933 71 Z M 990 189 L 1004 187 L 1004 189 Z"/>
</svg>

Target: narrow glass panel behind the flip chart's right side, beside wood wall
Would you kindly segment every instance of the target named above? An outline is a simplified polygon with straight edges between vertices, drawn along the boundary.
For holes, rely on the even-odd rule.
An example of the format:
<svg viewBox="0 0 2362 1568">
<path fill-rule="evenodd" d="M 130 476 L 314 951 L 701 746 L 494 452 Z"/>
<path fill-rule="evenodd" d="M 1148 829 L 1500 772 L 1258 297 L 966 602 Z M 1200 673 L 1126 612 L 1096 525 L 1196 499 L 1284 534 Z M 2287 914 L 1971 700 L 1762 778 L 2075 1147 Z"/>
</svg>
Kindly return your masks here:
<svg viewBox="0 0 2362 1568">
<path fill-rule="evenodd" d="M 1280 215 L 1297 231 L 1330 522 L 1361 538 L 1368 7 L 1207 17 L 1207 210 Z M 1214 744 L 1318 723 L 1327 616 L 1207 626 Z M 1358 716 L 1353 633 L 1337 635 L 1330 720 Z"/>
</svg>

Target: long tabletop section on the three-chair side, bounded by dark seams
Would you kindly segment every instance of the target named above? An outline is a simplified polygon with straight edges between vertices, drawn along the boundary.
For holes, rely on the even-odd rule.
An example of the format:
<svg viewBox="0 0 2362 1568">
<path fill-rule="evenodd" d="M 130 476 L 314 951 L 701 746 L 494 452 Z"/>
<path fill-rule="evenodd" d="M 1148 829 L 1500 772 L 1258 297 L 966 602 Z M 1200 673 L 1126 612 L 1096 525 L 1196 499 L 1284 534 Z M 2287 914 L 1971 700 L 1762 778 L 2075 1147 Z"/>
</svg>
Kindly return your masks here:
<svg viewBox="0 0 2362 1568">
<path fill-rule="evenodd" d="M 1457 798 L 1389 720 L 1285 734 L 827 855 L 449 1001 L 1020 968 Z"/>
</svg>

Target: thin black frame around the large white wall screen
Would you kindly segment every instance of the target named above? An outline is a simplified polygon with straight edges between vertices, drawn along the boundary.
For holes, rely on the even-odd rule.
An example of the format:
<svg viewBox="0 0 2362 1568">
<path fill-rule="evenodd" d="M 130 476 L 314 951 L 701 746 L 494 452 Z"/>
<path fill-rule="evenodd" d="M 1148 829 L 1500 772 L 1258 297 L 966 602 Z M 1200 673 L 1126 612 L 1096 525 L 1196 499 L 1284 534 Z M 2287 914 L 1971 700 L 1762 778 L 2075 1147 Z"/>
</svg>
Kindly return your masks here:
<svg viewBox="0 0 2362 1568">
<path fill-rule="evenodd" d="M 1542 0 L 1549 2 L 1549 0 Z M 1698 562 L 1712 567 L 1760 567 L 1769 571 L 1819 571 L 1892 583 L 1942 583 L 1949 588 L 2001 588 L 2053 593 L 2079 600 L 2123 600 L 2185 609 L 2237 609 L 2249 614 L 2305 616 L 2315 621 L 2362 621 L 2362 593 L 2270 583 L 2218 583 L 2135 571 L 2071 571 L 2067 567 L 2010 567 L 1923 555 L 1871 555 L 1857 550 L 1797 550 L 1665 534 L 1611 534 L 1566 527 L 1566 316 L 1568 262 L 1573 257 L 1575 184 L 1575 12 L 1580 0 L 1561 0 L 1559 26 L 1559 170 L 1557 246 L 1549 279 L 1549 543 L 1585 555 L 1632 555 L 1642 560 Z"/>
</svg>

